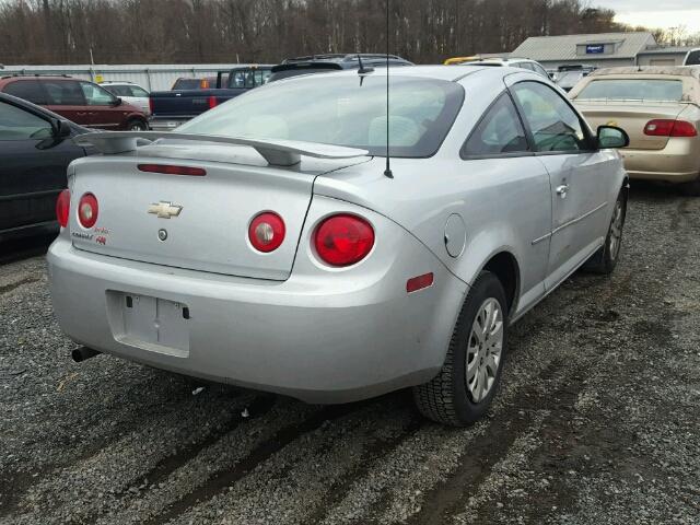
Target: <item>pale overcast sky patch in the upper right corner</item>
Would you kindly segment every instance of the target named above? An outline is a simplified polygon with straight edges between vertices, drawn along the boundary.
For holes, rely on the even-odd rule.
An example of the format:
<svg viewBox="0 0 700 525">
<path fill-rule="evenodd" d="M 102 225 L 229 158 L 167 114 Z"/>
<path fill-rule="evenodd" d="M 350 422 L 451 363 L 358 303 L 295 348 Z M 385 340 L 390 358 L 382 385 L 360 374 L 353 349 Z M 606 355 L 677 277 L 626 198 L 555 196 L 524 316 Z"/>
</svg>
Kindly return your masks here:
<svg viewBox="0 0 700 525">
<path fill-rule="evenodd" d="M 700 0 L 597 0 L 591 3 L 614 9 L 617 22 L 663 28 L 685 25 L 689 33 L 700 32 Z"/>
</svg>

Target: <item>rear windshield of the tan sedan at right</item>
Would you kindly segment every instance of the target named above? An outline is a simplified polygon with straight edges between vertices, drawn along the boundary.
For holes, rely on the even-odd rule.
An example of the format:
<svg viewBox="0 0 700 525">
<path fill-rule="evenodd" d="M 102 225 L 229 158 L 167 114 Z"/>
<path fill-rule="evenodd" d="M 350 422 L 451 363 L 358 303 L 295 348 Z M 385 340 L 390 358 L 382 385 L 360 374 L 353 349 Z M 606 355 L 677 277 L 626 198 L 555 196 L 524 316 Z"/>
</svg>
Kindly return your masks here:
<svg viewBox="0 0 700 525">
<path fill-rule="evenodd" d="M 586 85 L 576 100 L 606 101 L 672 101 L 682 100 L 680 80 L 609 79 Z"/>
</svg>

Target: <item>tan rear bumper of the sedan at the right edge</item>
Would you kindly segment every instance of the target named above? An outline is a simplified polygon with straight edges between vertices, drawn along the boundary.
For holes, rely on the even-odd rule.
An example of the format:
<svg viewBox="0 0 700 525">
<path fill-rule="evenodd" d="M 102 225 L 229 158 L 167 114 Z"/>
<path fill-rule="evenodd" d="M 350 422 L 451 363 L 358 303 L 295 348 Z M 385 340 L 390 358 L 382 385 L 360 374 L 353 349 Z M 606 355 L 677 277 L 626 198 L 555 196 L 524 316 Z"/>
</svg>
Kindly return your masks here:
<svg viewBox="0 0 700 525">
<path fill-rule="evenodd" d="M 700 176 L 700 140 L 672 138 L 663 150 L 620 150 L 631 178 L 687 183 Z"/>
</svg>

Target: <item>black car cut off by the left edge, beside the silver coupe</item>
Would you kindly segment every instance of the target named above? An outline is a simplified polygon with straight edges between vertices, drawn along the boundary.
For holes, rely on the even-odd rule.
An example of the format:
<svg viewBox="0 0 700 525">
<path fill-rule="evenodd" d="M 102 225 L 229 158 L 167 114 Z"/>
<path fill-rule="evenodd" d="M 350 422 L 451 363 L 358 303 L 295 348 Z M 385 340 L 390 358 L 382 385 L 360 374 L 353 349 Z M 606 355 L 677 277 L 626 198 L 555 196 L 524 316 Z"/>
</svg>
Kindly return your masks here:
<svg viewBox="0 0 700 525">
<path fill-rule="evenodd" d="M 91 130 L 0 93 L 0 242 L 58 230 L 56 197 L 68 164 L 88 151 L 72 137 Z"/>
</svg>

